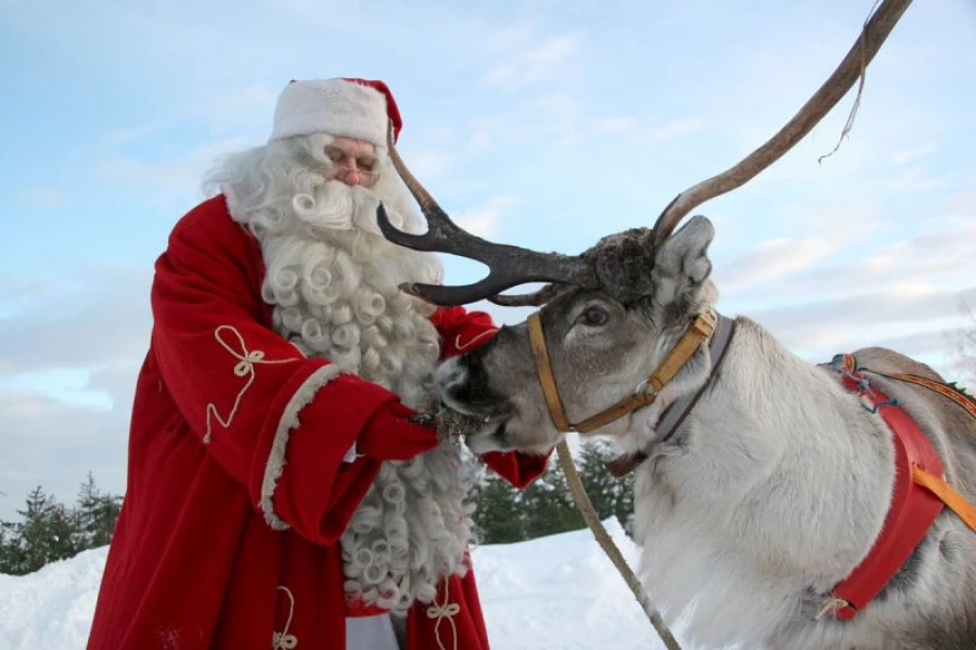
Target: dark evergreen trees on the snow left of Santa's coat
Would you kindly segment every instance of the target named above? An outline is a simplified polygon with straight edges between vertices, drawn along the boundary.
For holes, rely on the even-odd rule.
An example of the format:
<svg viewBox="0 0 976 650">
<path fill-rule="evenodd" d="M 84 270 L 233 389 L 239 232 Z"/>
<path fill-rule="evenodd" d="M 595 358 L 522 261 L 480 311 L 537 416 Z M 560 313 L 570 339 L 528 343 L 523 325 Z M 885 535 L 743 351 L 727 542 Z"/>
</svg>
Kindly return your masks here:
<svg viewBox="0 0 976 650">
<path fill-rule="evenodd" d="M 0 521 L 0 573 L 25 575 L 112 541 L 121 497 L 95 487 L 94 477 L 78 492 L 74 507 L 65 506 L 40 486 L 28 496 L 22 521 Z"/>
</svg>

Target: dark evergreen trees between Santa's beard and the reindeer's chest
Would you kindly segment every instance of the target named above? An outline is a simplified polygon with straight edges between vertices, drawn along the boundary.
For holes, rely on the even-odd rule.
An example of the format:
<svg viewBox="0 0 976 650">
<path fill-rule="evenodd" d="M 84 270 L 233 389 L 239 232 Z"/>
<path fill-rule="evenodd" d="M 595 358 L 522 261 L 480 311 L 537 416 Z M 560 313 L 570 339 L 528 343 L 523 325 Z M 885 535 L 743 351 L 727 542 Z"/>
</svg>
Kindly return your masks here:
<svg viewBox="0 0 976 650">
<path fill-rule="evenodd" d="M 633 474 L 616 479 L 604 463 L 613 458 L 603 442 L 586 441 L 575 457 L 580 481 L 601 520 L 615 515 L 629 533 L 633 514 Z M 471 495 L 479 544 L 509 544 L 544 535 L 576 531 L 586 526 L 573 501 L 566 476 L 555 454 L 549 471 L 526 489 L 512 487 L 503 479 L 486 472 Z"/>
</svg>

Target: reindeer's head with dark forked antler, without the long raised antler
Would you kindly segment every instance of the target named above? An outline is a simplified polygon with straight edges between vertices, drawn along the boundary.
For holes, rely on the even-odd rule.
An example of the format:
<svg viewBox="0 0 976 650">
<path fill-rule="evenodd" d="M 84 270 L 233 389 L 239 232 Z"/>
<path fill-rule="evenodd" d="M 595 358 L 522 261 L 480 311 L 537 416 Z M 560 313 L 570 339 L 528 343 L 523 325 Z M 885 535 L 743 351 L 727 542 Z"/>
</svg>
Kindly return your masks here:
<svg viewBox="0 0 976 650">
<path fill-rule="evenodd" d="M 487 345 L 438 370 L 445 404 L 478 422 L 467 431 L 467 443 L 475 453 L 541 453 L 574 429 L 551 417 L 551 400 L 547 402 L 540 385 L 534 355 L 540 339 L 544 340 L 541 347 L 548 354 L 547 366 L 557 394 L 566 405 L 564 419 L 578 424 L 634 395 L 647 395 L 648 373 L 695 318 L 711 309 L 717 292 L 709 280 L 707 250 L 715 231 L 705 217 L 692 218 L 672 234 L 680 216 L 666 211 L 653 229 L 606 237 L 579 256 L 496 244 L 453 224 L 410 175 L 393 145 L 389 151 L 427 218 L 428 231 L 412 235 L 394 229 L 381 206 L 377 220 L 384 234 L 410 247 L 478 259 L 490 269 L 488 277 L 475 284 L 413 284 L 404 286 L 407 291 L 441 305 L 480 298 L 503 305 L 544 305 L 528 322 L 502 328 Z M 529 295 L 499 294 L 538 281 L 550 284 Z M 538 324 L 532 324 L 534 319 Z M 692 359 L 660 391 L 662 397 L 670 397 L 662 403 L 699 385 L 706 366 L 705 359 Z M 641 417 L 659 411 L 645 409 Z M 578 429 L 622 434 L 633 424 L 630 411 L 625 415 L 605 425 L 601 421 Z"/>
</svg>

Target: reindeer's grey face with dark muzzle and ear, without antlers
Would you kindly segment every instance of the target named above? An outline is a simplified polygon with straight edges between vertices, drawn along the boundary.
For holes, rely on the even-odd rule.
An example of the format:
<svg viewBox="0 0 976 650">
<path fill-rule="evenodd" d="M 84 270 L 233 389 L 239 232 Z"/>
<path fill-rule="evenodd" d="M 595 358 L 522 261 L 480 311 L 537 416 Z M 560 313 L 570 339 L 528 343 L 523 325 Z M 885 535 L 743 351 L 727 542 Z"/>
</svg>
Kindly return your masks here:
<svg viewBox="0 0 976 650">
<path fill-rule="evenodd" d="M 644 278 L 648 286 L 630 301 L 617 291 L 573 289 L 552 299 L 538 316 L 549 368 L 574 429 L 633 395 L 643 394 L 656 368 L 698 314 L 708 311 L 716 291 L 708 279 L 706 250 L 711 224 L 695 217 L 654 251 Z M 562 439 L 537 375 L 529 323 L 503 327 L 487 345 L 452 359 L 437 372 L 441 399 L 473 416 L 481 426 L 467 435 L 472 450 L 544 451 Z M 704 364 L 691 364 L 663 391 L 662 404 L 703 379 Z M 646 418 L 659 413 L 648 409 Z M 595 431 L 624 434 L 631 415 Z"/>
</svg>

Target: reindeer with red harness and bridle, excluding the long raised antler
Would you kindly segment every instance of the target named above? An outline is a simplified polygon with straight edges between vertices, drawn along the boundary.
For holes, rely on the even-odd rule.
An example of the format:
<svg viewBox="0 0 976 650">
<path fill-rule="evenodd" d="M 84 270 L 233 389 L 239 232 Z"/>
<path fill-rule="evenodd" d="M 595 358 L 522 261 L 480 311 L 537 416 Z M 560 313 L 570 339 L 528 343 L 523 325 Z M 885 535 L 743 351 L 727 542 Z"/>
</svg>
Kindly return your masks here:
<svg viewBox="0 0 976 650">
<path fill-rule="evenodd" d="M 704 216 L 678 228 L 684 194 L 651 229 L 579 256 L 539 253 L 461 230 L 390 151 L 429 228 L 399 232 L 381 209 L 386 237 L 491 269 L 467 286 L 407 289 L 438 304 L 544 305 L 438 370 L 467 445 L 613 439 L 617 468 L 637 472 L 640 573 L 667 621 L 685 614 L 706 646 L 976 647 L 976 533 L 956 514 L 976 501 L 974 403 L 897 352 L 811 365 L 759 323 L 717 314 L 715 229 Z M 926 480 L 951 486 L 954 511 Z"/>
</svg>

